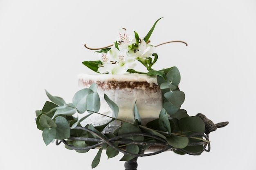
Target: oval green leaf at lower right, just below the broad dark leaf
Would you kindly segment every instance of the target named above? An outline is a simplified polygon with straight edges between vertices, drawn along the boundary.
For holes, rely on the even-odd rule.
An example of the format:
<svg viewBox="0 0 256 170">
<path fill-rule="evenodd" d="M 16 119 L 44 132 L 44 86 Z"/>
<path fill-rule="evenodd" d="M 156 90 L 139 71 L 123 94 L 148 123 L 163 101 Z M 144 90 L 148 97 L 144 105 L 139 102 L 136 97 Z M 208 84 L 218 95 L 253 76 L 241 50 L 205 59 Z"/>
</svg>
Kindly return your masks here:
<svg viewBox="0 0 256 170">
<path fill-rule="evenodd" d="M 185 148 L 189 144 L 189 138 L 184 136 L 178 135 L 171 135 L 166 140 L 169 145 L 173 146 L 174 148 Z"/>
</svg>

